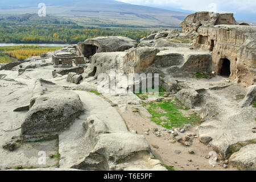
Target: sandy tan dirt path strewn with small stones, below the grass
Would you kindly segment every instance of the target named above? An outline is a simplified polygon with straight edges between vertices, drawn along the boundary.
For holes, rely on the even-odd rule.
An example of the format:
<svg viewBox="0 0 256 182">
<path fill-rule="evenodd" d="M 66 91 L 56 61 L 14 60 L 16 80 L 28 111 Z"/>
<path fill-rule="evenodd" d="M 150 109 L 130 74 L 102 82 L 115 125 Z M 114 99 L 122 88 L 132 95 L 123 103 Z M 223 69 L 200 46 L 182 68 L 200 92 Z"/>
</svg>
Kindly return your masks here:
<svg viewBox="0 0 256 182">
<path fill-rule="evenodd" d="M 146 137 L 155 158 L 159 159 L 163 164 L 174 167 L 174 169 L 177 171 L 237 170 L 232 166 L 228 166 L 228 168 L 225 169 L 223 164 L 219 161 L 215 167 L 210 165 L 209 159 L 205 158 L 205 156 L 208 156 L 209 152 L 213 151 L 213 148 L 209 145 L 201 143 L 199 138 L 194 138 L 190 147 L 184 146 L 179 142 L 173 144 L 170 143 L 170 140 L 168 140 L 170 137 L 168 130 L 162 126 L 156 125 L 156 123 L 150 121 L 150 118 L 144 117 L 139 113 L 133 113 L 130 108 L 125 113 L 119 113 L 125 120 L 129 130 L 135 130 L 138 134 L 144 135 Z M 152 128 L 157 128 L 162 136 L 156 137 L 156 135 L 152 132 Z M 148 132 L 149 135 L 145 133 L 146 129 L 150 129 Z M 183 134 L 179 133 L 179 135 L 183 137 L 189 133 L 197 134 L 195 127 L 191 127 L 191 129 Z M 189 150 L 193 150 L 195 154 L 189 154 Z M 189 162 L 190 159 L 191 162 Z"/>
</svg>

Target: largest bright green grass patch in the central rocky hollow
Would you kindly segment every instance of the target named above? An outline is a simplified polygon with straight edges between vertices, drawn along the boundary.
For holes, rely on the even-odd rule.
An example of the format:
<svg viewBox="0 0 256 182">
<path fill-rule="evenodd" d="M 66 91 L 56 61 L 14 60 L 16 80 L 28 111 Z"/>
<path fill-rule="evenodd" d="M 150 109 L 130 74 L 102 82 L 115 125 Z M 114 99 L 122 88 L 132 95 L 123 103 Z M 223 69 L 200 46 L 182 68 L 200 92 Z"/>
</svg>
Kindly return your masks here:
<svg viewBox="0 0 256 182">
<path fill-rule="evenodd" d="M 181 110 L 189 110 L 189 108 L 184 107 L 177 100 L 151 102 L 146 106 L 146 109 L 152 115 L 151 121 L 166 129 L 181 127 L 188 123 L 199 125 L 201 121 L 201 118 L 196 113 L 189 114 L 188 117 L 184 116 Z"/>
</svg>

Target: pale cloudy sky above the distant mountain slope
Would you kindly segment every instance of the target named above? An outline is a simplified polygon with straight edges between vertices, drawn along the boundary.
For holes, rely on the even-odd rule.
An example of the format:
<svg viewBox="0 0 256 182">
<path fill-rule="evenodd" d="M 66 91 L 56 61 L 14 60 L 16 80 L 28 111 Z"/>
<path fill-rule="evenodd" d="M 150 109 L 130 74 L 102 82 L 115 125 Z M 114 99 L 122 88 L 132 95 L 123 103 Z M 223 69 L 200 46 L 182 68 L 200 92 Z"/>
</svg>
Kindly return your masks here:
<svg viewBox="0 0 256 182">
<path fill-rule="evenodd" d="M 212 11 L 218 13 L 232 12 L 256 15 L 255 0 L 117 0 L 134 5 L 166 6 L 193 11 Z M 213 4 L 214 3 L 214 4 Z"/>
</svg>

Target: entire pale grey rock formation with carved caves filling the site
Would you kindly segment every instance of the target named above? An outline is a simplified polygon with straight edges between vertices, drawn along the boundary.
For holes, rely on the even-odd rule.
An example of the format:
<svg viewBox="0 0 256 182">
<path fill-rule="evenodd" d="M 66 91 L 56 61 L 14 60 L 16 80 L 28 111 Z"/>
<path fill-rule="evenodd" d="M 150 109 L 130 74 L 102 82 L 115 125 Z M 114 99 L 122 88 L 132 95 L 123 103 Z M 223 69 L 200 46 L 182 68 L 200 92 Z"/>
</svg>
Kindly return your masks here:
<svg viewBox="0 0 256 182">
<path fill-rule="evenodd" d="M 157 144 L 172 147 L 197 142 L 204 149 L 197 152 L 212 147 L 225 162 L 224 169 L 228 163 L 255 169 L 255 27 L 237 25 L 233 14 L 209 12 L 189 15 L 181 27 L 182 32 L 154 31 L 139 44 L 121 36 L 93 38 L 1 65 L 0 168 L 23 164 L 59 165 L 60 170 L 166 170 L 151 153 L 152 147 L 159 152 L 149 140 L 156 137 L 162 139 Z M 130 73 L 157 73 L 160 82 L 154 87 L 161 93 L 98 93 L 100 74 L 110 75 L 112 70 L 126 78 Z M 123 83 L 118 76 L 113 79 L 117 85 Z M 122 89 L 141 88 L 146 79 L 125 82 Z M 155 113 L 185 115 L 176 123 L 182 126 L 164 129 L 175 118 L 161 115 L 154 125 L 163 130 L 133 131 L 131 127 L 141 130 L 138 118 L 158 117 L 149 107 Z M 177 110 L 168 110 L 172 107 Z M 129 126 L 131 121 L 136 123 Z M 188 133 L 192 130 L 197 134 Z M 42 150 L 57 159 L 39 165 L 36 156 Z M 192 154 L 196 155 L 189 150 Z M 208 161 L 202 166 L 207 165 Z"/>
</svg>

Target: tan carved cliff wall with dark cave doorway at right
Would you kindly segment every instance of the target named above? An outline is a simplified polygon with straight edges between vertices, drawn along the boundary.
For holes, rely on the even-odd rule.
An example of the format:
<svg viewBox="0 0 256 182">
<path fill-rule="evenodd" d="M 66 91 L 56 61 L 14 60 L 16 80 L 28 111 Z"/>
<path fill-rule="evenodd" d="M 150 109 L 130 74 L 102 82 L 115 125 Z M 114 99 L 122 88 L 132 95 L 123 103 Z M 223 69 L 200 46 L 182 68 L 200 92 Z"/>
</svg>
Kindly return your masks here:
<svg viewBox="0 0 256 182">
<path fill-rule="evenodd" d="M 230 61 L 230 80 L 249 86 L 256 80 L 256 27 L 218 25 L 200 27 L 193 48 L 212 51 L 212 70 L 221 75 Z"/>
</svg>

